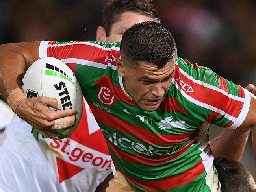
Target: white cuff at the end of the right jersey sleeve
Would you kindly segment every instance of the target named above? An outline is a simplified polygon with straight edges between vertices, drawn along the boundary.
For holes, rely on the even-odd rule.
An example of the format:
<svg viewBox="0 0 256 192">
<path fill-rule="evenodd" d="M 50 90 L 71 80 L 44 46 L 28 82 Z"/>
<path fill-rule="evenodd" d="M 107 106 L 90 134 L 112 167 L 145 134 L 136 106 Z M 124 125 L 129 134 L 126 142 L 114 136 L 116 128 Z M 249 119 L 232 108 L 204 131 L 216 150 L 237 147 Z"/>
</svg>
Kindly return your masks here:
<svg viewBox="0 0 256 192">
<path fill-rule="evenodd" d="M 239 116 L 237 117 L 236 122 L 234 122 L 230 127 L 228 127 L 228 129 L 236 129 L 237 127 L 239 127 L 243 123 L 243 121 L 245 120 L 249 112 L 251 93 L 246 89 L 243 89 L 243 90 L 245 92 L 245 102 L 243 103 L 243 108 Z"/>
</svg>

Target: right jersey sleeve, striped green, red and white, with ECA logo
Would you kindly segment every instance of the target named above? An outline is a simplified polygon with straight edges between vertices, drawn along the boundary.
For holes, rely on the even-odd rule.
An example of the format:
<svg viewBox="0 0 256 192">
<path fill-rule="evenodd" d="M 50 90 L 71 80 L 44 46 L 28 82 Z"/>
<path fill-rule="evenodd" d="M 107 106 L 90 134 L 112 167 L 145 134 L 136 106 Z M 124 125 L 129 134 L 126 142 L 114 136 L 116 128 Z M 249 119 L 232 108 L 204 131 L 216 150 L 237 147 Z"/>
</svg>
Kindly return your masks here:
<svg viewBox="0 0 256 192">
<path fill-rule="evenodd" d="M 177 59 L 173 83 L 186 110 L 201 123 L 236 129 L 250 107 L 250 92 L 209 68 Z"/>
</svg>

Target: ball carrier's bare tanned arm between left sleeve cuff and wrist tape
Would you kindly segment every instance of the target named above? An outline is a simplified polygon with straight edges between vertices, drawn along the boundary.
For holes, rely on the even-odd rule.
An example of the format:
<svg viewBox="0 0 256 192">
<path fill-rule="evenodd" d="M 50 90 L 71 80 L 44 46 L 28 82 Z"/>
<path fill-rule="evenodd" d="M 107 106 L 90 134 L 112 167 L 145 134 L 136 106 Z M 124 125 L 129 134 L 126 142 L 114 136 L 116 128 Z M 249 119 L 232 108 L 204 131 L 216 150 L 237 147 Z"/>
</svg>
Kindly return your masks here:
<svg viewBox="0 0 256 192">
<path fill-rule="evenodd" d="M 13 89 L 21 88 L 26 67 L 39 59 L 38 47 L 39 42 L 0 46 L 0 92 L 6 100 Z"/>
</svg>

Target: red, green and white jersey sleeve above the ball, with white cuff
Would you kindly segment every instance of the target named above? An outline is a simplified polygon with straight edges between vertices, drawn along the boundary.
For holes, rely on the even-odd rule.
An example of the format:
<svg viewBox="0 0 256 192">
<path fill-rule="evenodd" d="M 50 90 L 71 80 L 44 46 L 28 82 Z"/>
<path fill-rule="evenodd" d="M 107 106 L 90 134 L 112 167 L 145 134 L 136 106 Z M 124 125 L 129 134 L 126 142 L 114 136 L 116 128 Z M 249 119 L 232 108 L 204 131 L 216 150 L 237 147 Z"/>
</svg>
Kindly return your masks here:
<svg viewBox="0 0 256 192">
<path fill-rule="evenodd" d="M 116 68 L 120 43 L 97 41 L 41 41 L 39 57 L 55 57 L 66 63 L 76 74 L 81 86 L 93 81 L 95 76 L 104 75 L 106 68 Z"/>
</svg>

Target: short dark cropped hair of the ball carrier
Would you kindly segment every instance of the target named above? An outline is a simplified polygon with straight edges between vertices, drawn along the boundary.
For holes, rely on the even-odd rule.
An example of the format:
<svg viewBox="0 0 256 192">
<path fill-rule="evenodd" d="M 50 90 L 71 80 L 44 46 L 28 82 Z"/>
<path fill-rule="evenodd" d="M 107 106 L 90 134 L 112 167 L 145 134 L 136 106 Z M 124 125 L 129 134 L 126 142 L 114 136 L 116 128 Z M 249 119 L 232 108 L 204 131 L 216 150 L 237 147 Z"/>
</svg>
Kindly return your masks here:
<svg viewBox="0 0 256 192">
<path fill-rule="evenodd" d="M 146 21 L 124 32 L 120 54 L 125 64 L 148 61 L 163 67 L 176 58 L 177 48 L 173 35 L 163 24 Z"/>
</svg>

